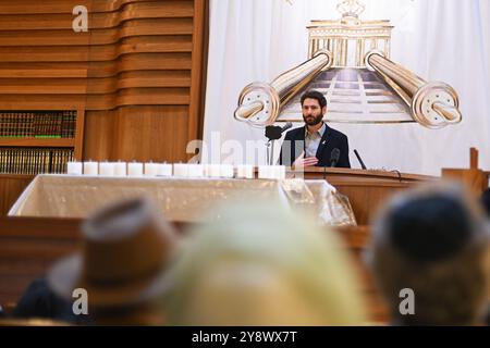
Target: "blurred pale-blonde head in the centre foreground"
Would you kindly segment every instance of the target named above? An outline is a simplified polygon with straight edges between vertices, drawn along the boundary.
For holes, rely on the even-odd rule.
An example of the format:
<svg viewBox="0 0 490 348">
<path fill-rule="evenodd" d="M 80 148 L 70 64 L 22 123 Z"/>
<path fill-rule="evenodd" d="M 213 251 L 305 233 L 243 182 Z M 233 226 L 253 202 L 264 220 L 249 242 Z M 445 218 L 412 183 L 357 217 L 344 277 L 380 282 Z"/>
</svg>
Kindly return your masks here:
<svg viewBox="0 0 490 348">
<path fill-rule="evenodd" d="M 279 202 L 219 207 L 192 232 L 162 300 L 173 325 L 357 325 L 346 252 Z"/>
</svg>

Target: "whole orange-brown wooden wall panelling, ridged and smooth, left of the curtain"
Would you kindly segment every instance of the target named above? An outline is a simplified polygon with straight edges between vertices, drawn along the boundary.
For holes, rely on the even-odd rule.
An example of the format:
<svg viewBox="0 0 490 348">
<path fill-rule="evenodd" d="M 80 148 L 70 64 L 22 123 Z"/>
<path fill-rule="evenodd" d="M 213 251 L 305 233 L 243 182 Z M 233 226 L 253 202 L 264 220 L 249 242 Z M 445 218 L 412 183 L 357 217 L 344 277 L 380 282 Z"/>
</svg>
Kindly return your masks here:
<svg viewBox="0 0 490 348">
<path fill-rule="evenodd" d="M 78 4 L 88 33 L 71 27 Z M 2 109 L 84 110 L 77 159 L 185 161 L 201 136 L 207 4 L 0 1 Z"/>
</svg>

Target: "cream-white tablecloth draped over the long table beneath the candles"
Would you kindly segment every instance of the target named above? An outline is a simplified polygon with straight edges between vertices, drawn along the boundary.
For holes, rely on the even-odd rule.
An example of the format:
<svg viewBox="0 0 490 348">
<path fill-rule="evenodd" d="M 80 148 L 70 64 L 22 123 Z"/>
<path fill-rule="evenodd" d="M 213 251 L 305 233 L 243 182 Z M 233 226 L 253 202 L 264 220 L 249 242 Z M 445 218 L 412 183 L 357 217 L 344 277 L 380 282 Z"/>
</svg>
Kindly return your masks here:
<svg viewBox="0 0 490 348">
<path fill-rule="evenodd" d="M 328 225 L 355 225 L 345 197 L 324 181 L 38 175 L 9 215 L 86 217 L 106 204 L 149 196 L 171 221 L 196 222 L 218 202 L 270 200 L 315 212 Z"/>
</svg>

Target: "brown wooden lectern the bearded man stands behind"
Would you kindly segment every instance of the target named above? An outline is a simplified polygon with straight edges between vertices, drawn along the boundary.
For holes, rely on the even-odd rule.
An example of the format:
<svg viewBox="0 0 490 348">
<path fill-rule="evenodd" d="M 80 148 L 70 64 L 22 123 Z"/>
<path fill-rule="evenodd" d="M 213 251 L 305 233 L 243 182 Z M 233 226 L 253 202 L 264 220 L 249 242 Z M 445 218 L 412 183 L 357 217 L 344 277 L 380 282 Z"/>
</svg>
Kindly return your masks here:
<svg viewBox="0 0 490 348">
<path fill-rule="evenodd" d="M 326 179 L 348 197 L 358 225 L 369 225 L 378 209 L 393 194 L 420 183 L 437 181 L 437 176 L 404 174 L 400 172 L 365 171 L 353 169 L 306 167 L 304 172 L 290 171 L 289 176 L 305 179 Z"/>
</svg>

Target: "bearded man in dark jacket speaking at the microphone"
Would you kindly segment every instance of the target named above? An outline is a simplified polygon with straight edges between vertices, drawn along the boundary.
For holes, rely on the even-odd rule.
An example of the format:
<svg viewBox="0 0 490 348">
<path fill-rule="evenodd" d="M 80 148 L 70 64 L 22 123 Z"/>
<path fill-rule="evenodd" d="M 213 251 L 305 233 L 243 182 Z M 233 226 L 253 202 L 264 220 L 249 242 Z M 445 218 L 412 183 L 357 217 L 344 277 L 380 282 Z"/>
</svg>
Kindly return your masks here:
<svg viewBox="0 0 490 348">
<path fill-rule="evenodd" d="M 351 167 L 347 137 L 323 122 L 327 113 L 323 95 L 316 90 L 305 92 L 302 96 L 302 111 L 305 126 L 287 132 L 281 148 L 280 164 Z M 336 161 L 335 152 L 339 154 Z"/>
</svg>

